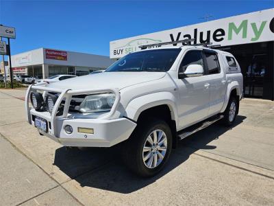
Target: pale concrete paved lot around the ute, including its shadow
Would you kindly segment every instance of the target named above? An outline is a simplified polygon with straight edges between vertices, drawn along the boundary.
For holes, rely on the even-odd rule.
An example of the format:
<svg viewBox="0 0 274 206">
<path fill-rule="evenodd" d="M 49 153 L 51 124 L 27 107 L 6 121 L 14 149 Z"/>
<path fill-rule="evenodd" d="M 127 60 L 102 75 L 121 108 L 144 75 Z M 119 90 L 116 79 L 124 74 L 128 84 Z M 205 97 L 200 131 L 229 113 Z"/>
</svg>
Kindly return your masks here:
<svg viewBox="0 0 274 206">
<path fill-rule="evenodd" d="M 244 99 L 232 128 L 181 141 L 151 179 L 129 172 L 119 146 L 66 150 L 27 124 L 25 90 L 0 90 L 3 205 L 274 205 L 274 102 Z"/>
</svg>

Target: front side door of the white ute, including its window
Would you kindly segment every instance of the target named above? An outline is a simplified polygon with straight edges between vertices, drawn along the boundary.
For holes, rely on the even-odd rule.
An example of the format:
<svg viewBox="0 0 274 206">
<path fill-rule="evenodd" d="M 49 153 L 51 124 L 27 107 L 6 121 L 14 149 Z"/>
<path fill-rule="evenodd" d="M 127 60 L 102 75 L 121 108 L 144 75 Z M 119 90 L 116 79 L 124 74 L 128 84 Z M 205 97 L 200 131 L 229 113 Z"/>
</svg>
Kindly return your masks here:
<svg viewBox="0 0 274 206">
<path fill-rule="evenodd" d="M 201 65 L 204 75 L 176 80 L 179 88 L 179 104 L 177 105 L 179 129 L 205 119 L 209 110 L 210 78 L 206 76 L 202 50 L 195 49 L 186 52 L 179 66 L 179 73 L 184 72 L 188 65 Z"/>
</svg>

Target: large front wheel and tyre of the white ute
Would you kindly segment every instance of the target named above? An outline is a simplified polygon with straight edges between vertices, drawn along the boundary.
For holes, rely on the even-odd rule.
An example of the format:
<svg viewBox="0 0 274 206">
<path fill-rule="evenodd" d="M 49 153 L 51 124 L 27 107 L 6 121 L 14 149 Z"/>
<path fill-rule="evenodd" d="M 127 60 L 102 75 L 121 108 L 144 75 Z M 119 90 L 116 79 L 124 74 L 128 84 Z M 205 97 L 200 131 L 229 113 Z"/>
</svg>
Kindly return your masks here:
<svg viewBox="0 0 274 206">
<path fill-rule="evenodd" d="M 169 125 L 160 119 L 147 120 L 146 124 L 138 124 L 123 147 L 125 164 L 140 176 L 153 176 L 160 172 L 169 160 L 172 148 Z"/>
</svg>

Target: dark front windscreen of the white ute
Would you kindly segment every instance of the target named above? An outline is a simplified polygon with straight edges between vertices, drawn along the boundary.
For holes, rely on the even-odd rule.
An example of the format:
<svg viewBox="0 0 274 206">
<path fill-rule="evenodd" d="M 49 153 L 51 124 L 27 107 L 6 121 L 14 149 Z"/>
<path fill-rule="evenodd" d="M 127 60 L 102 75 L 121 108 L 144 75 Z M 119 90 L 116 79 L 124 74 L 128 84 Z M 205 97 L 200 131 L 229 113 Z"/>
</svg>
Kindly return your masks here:
<svg viewBox="0 0 274 206">
<path fill-rule="evenodd" d="M 111 65 L 110 71 L 169 71 L 181 49 L 153 49 L 127 54 Z"/>
</svg>

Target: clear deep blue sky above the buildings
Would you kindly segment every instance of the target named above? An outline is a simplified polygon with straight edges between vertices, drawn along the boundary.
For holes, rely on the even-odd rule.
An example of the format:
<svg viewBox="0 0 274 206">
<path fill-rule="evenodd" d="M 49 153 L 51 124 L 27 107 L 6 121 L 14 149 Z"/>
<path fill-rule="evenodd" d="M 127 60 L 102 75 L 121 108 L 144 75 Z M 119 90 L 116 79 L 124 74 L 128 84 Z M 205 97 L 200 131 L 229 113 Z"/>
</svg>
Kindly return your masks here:
<svg viewBox="0 0 274 206">
<path fill-rule="evenodd" d="M 269 8 L 274 0 L 0 0 L 0 24 L 16 28 L 12 54 L 46 47 L 109 56 L 110 41 Z"/>
</svg>

